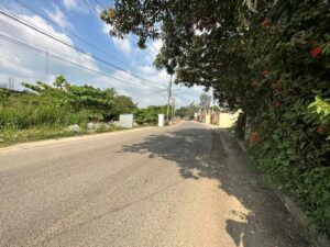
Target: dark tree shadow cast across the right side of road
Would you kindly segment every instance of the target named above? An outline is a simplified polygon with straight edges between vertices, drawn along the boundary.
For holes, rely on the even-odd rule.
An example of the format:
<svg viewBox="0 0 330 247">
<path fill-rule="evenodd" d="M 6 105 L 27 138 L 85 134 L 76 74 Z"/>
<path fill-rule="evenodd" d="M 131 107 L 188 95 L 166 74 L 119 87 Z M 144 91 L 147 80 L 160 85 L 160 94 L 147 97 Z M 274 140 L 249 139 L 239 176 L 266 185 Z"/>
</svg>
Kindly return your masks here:
<svg viewBox="0 0 330 247">
<path fill-rule="evenodd" d="M 262 182 L 229 132 L 186 127 L 152 135 L 142 143 L 123 146 L 122 151 L 172 160 L 185 179 L 217 180 L 220 190 L 235 197 L 251 212 L 246 215 L 233 209 L 232 214 L 240 221 L 226 222 L 227 233 L 237 246 L 310 246 L 301 240 L 283 203 Z"/>
</svg>

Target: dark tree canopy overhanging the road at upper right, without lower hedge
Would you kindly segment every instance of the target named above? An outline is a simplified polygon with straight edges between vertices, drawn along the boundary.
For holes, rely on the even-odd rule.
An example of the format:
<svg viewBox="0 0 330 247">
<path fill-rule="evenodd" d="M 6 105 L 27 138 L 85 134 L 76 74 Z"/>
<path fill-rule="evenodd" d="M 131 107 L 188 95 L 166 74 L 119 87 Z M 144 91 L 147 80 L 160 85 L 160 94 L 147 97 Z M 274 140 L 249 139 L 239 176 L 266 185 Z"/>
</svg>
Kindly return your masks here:
<svg viewBox="0 0 330 247">
<path fill-rule="evenodd" d="M 220 106 L 251 111 L 258 100 L 255 89 L 251 88 L 257 85 L 255 79 L 262 79 L 257 75 L 265 70 L 265 65 L 271 67 L 271 60 L 275 67 L 283 65 L 278 60 L 287 65 L 297 64 L 295 56 L 285 56 L 288 49 L 285 44 L 294 33 L 297 36 L 292 44 L 298 49 L 307 48 L 309 54 L 316 38 L 312 33 L 327 26 L 327 20 L 321 16 L 328 16 L 330 4 L 322 0 L 256 2 L 117 0 L 112 8 L 101 13 L 101 19 L 111 24 L 111 35 L 123 37 L 129 33 L 135 34 L 142 48 L 148 38 L 162 38 L 163 47 L 155 65 L 166 68 L 169 74 L 176 71 L 177 83 L 212 87 Z M 308 20 L 302 20 L 302 12 L 309 14 Z M 286 25 L 287 20 L 292 20 L 292 24 Z M 299 24 L 301 20 L 307 25 L 318 25 L 314 24 L 312 33 L 304 33 L 306 25 Z M 271 22 L 274 27 L 271 27 Z M 270 36 L 275 27 L 276 32 Z M 327 33 L 324 30 L 321 32 Z M 306 40 L 304 44 L 299 42 L 301 38 Z M 326 36 L 320 38 L 319 45 L 326 45 L 327 40 Z M 273 56 L 273 47 L 277 47 L 276 53 L 280 57 Z M 293 54 L 296 52 L 292 49 Z M 264 89 L 262 91 L 265 93 Z"/>
</svg>

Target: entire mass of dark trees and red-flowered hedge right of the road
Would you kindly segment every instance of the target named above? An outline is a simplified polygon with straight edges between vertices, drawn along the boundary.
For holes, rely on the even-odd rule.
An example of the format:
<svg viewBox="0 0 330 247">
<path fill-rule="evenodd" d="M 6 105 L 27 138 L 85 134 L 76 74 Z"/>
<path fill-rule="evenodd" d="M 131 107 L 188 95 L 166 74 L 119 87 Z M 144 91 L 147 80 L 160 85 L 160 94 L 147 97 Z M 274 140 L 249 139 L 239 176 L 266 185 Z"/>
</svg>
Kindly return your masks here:
<svg viewBox="0 0 330 247">
<path fill-rule="evenodd" d="M 330 236 L 329 0 L 116 0 L 101 19 L 162 38 L 158 68 L 241 109 L 257 167 Z"/>
</svg>

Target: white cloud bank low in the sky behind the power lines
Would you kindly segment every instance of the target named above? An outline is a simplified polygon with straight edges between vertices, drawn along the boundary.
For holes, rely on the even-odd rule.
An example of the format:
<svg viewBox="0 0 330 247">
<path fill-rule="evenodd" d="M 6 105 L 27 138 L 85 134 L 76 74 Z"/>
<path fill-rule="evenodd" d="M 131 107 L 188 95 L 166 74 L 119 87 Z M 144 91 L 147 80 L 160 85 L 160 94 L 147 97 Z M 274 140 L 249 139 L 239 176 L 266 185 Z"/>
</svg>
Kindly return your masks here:
<svg viewBox="0 0 330 247">
<path fill-rule="evenodd" d="M 74 45 L 74 42 L 69 36 L 62 32 L 55 31 L 50 23 L 47 23 L 40 16 L 23 14 L 16 15 L 31 23 L 33 26 L 42 29 L 56 37 L 59 37 L 66 43 Z M 28 26 L 20 25 L 19 23 L 15 23 L 13 21 L 11 22 L 4 16 L 0 16 L 0 26 L 2 26 L 1 23 L 10 24 L 12 29 L 16 30 L 15 33 L 6 33 L 3 31 L 4 35 L 7 36 L 11 36 L 12 38 L 26 43 L 31 46 L 38 47 L 43 50 L 48 50 L 50 53 L 66 57 L 67 59 L 85 67 L 89 67 L 98 71 L 101 70 L 96 60 L 90 56 L 80 54 L 77 50 L 69 48 L 52 40 L 51 37 L 46 37 L 45 35 L 40 34 Z M 141 54 L 143 54 L 142 52 L 136 52 L 138 48 L 134 48 L 133 46 L 131 46 L 131 44 L 127 44 L 127 42 L 129 42 L 128 40 L 120 42 L 114 41 L 113 43 L 116 42 L 118 42 L 117 48 L 122 50 L 124 54 L 134 54 L 131 60 L 134 60 L 140 65 L 142 58 Z M 154 44 L 154 46 L 158 47 L 160 43 Z M 116 79 L 101 76 L 92 71 L 84 70 L 68 63 L 54 59 L 51 56 L 47 57 L 43 54 L 38 54 L 0 40 L 0 82 L 8 81 L 8 78 L 12 77 L 16 81 L 16 85 L 21 81 L 33 82 L 36 80 L 42 80 L 50 83 L 53 82 L 55 76 L 64 75 L 69 82 L 75 85 L 88 83 L 99 88 L 113 87 L 119 93 L 132 97 L 140 106 L 146 106 L 148 104 L 165 104 L 167 99 L 166 91 L 164 90 L 161 92 L 160 90 L 161 88 L 166 89 L 168 87 L 168 76 L 166 75 L 166 72 L 163 70 L 158 71 L 154 67 L 144 64 L 134 67 L 138 70 L 134 71 L 134 74 L 146 78 L 148 81 L 139 79 L 121 70 L 116 70 L 112 72 L 103 70 L 107 71 L 109 76 L 136 83 L 138 86 L 118 81 Z M 157 92 L 155 92 L 155 90 L 151 90 L 147 87 L 139 85 L 152 86 L 156 88 L 155 90 L 157 90 Z M 193 100 L 196 101 L 197 97 L 200 93 L 198 90 L 191 90 L 187 88 L 182 88 L 180 91 L 176 92 L 180 94 L 180 98 L 185 99 L 185 101 L 183 102 L 180 102 L 180 100 L 178 99 L 178 105 L 187 104 Z"/>
</svg>

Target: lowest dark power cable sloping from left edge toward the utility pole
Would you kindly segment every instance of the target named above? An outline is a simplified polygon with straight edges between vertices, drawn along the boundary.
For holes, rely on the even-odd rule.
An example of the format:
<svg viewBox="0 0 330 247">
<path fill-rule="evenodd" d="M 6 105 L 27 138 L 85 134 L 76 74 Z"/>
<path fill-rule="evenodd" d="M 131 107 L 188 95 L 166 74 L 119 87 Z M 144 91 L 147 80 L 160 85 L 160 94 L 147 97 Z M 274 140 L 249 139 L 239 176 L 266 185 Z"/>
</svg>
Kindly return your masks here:
<svg viewBox="0 0 330 247">
<path fill-rule="evenodd" d="M 100 71 L 100 70 L 96 70 L 96 69 L 92 69 L 92 68 L 82 66 L 82 65 L 80 65 L 80 64 L 78 64 L 78 63 L 75 63 L 75 61 L 73 61 L 73 60 L 69 60 L 69 59 L 67 59 L 67 58 L 65 58 L 65 57 L 57 56 L 57 55 L 52 54 L 52 53 L 47 53 L 46 50 L 36 48 L 36 47 L 34 47 L 34 46 L 31 46 L 31 45 L 29 45 L 29 44 L 22 43 L 22 42 L 20 42 L 20 41 L 18 41 L 18 40 L 11 38 L 11 37 L 6 36 L 6 35 L 0 34 L 0 38 L 1 38 L 1 40 L 4 40 L 4 41 L 8 41 L 8 42 L 11 42 L 11 43 L 13 43 L 13 44 L 16 44 L 16 45 L 19 45 L 19 46 L 29 48 L 29 49 L 34 50 L 34 52 L 36 52 L 36 53 L 40 53 L 40 54 L 43 54 L 43 55 L 48 55 L 50 57 L 53 57 L 53 58 L 55 58 L 55 59 L 58 59 L 58 60 L 62 60 L 62 61 L 69 63 L 69 64 L 72 64 L 72 65 L 75 65 L 75 66 L 77 66 L 77 67 L 80 67 L 80 68 L 86 69 L 86 70 L 89 70 L 89 71 L 92 71 L 92 72 L 95 72 L 95 74 L 99 74 L 99 75 L 102 75 L 102 76 L 105 76 L 105 77 L 108 77 L 108 78 L 111 78 L 111 79 L 114 79 L 114 80 L 118 80 L 118 81 L 122 81 L 122 82 L 125 82 L 125 83 L 131 83 L 131 85 L 135 85 L 135 86 L 139 86 L 139 87 L 146 87 L 146 88 L 150 88 L 150 89 L 152 89 L 152 90 L 155 90 L 154 88 L 151 88 L 151 87 L 148 87 L 148 86 L 146 86 L 146 85 L 134 83 L 134 82 L 132 82 L 132 81 L 128 81 L 128 80 L 123 80 L 123 79 L 120 79 L 120 78 L 117 78 L 117 77 L 109 76 L 109 75 L 107 75 L 106 72 L 102 72 L 102 71 Z"/>
</svg>

